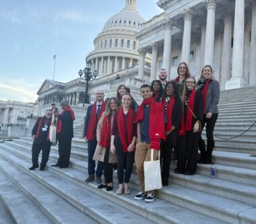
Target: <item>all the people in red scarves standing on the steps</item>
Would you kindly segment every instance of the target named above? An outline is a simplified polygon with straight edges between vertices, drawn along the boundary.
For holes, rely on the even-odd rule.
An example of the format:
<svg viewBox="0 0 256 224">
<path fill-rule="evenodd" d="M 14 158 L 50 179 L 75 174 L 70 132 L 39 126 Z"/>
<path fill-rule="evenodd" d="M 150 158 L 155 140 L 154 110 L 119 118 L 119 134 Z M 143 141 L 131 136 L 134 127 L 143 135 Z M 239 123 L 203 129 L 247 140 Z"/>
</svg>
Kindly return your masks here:
<svg viewBox="0 0 256 224">
<path fill-rule="evenodd" d="M 220 86 L 214 79 L 212 67 L 205 65 L 197 82 L 184 62 L 179 64 L 177 78 L 174 80 L 166 80 L 165 69 L 160 69 L 158 77 L 151 85 L 141 85 L 143 101 L 139 106 L 125 85 L 119 85 L 116 97 L 106 100 L 102 89 L 96 91 L 96 101 L 88 107 L 84 125 L 84 139 L 88 143 L 86 182 L 96 181 L 99 189 L 113 190 L 113 168 L 117 164 L 119 188 L 116 193 L 130 194 L 129 181 L 135 161 L 141 188 L 135 200 L 152 202 L 156 197 L 155 190 L 145 191 L 143 169 L 144 161 L 150 161 L 152 155 L 154 160 L 160 159 L 163 186 L 168 186 L 171 160 L 178 160 L 174 173 L 185 175 L 195 174 L 197 163 L 212 163 L 213 132 L 220 96 Z M 57 126 L 61 121 L 63 130 L 58 134 L 59 160 L 53 165 L 60 168 L 69 164 L 74 120 L 68 104 L 61 104 L 61 107 L 61 114 L 54 113 Z M 46 133 L 49 126 L 53 125 L 50 121 L 51 112 L 47 110 L 32 131 L 35 140 L 32 147 L 33 166 L 30 170 L 38 167 L 40 148 L 43 151 L 41 168 L 45 167 L 48 160 L 51 144 L 44 147 L 39 140 L 48 141 Z M 205 124 L 206 146 L 201 138 Z M 69 135 L 65 127 L 72 130 Z M 200 157 L 197 156 L 198 149 Z"/>
</svg>

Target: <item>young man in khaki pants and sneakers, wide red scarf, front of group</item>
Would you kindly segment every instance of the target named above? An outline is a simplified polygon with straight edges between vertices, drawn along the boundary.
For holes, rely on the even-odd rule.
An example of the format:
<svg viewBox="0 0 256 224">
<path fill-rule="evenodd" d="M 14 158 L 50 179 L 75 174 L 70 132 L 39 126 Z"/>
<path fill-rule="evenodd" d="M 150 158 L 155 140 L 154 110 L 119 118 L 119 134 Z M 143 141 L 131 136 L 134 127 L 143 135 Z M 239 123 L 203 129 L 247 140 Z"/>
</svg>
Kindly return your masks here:
<svg viewBox="0 0 256 224">
<path fill-rule="evenodd" d="M 152 97 L 153 92 L 150 85 L 141 85 L 140 94 L 143 102 L 135 115 L 135 122 L 137 123 L 135 165 L 141 192 L 136 194 L 135 200 L 145 198 L 146 202 L 153 202 L 156 197 L 155 191 L 145 192 L 143 163 L 144 161 L 150 161 L 151 150 L 154 150 L 154 160 L 158 158 L 160 139 L 165 139 L 166 137 L 164 132 L 164 111 L 162 105 Z"/>
</svg>

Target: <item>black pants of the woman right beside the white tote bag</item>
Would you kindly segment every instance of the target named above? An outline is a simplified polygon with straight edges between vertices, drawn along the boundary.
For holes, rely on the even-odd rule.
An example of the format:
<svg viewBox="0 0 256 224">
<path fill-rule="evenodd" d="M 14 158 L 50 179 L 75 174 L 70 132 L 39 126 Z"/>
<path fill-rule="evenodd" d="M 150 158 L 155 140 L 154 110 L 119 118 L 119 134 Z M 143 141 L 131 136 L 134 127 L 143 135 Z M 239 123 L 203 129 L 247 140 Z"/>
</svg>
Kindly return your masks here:
<svg viewBox="0 0 256 224">
<path fill-rule="evenodd" d="M 160 151 L 160 161 L 162 162 L 162 178 L 168 179 L 170 173 L 170 160 L 172 159 L 173 145 L 163 142 Z"/>
</svg>

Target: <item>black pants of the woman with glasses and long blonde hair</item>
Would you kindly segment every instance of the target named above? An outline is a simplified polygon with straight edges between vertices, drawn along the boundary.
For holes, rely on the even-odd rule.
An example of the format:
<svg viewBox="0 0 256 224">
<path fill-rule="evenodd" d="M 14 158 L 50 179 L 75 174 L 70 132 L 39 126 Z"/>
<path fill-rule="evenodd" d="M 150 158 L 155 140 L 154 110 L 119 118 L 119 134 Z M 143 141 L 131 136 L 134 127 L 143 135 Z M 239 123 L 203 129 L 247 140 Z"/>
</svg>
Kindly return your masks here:
<svg viewBox="0 0 256 224">
<path fill-rule="evenodd" d="M 179 136 L 179 156 L 177 170 L 195 174 L 197 170 L 197 150 L 200 133 L 193 133 L 193 130 L 186 131 L 185 135 Z"/>
</svg>

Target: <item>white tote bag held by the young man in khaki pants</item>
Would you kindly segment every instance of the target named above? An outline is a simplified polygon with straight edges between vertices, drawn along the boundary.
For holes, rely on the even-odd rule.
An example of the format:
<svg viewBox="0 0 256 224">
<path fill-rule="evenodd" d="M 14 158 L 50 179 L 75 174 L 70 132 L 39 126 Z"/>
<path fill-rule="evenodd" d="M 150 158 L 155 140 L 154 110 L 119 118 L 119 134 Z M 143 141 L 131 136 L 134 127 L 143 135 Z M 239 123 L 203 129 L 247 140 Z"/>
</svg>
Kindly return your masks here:
<svg viewBox="0 0 256 224">
<path fill-rule="evenodd" d="M 144 161 L 145 191 L 157 190 L 162 188 L 160 151 L 158 160 L 153 160 L 154 149 L 151 150 L 150 161 Z"/>
</svg>

